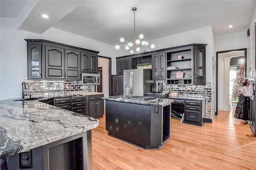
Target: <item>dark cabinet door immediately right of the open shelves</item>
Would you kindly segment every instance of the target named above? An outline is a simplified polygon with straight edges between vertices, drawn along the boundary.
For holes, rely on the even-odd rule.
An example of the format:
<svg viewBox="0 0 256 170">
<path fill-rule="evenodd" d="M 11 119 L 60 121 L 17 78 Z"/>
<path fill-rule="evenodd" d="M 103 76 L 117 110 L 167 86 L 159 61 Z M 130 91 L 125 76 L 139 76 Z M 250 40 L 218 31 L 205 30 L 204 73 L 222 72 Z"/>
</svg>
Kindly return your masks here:
<svg viewBox="0 0 256 170">
<path fill-rule="evenodd" d="M 195 48 L 194 49 L 194 77 L 201 78 L 204 77 L 204 49 Z"/>
</svg>

